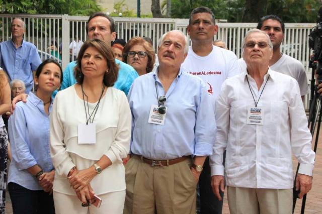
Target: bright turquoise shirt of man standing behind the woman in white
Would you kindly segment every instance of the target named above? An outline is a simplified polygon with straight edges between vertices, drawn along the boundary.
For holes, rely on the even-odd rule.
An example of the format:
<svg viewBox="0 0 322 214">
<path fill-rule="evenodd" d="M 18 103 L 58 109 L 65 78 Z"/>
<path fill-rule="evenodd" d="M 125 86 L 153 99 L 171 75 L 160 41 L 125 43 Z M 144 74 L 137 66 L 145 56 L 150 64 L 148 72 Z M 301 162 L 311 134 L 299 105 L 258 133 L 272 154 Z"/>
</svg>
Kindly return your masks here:
<svg viewBox="0 0 322 214">
<path fill-rule="evenodd" d="M 118 59 L 115 59 L 116 64 L 119 67 L 119 74 L 116 82 L 114 83 L 114 87 L 124 91 L 127 94 L 130 90 L 133 80 L 138 77 L 137 72 L 134 68 Z M 70 62 L 63 73 L 63 80 L 60 86 L 60 89 L 63 90 L 68 88 L 69 86 L 76 83 L 76 79 L 74 77 L 74 68 L 76 66 L 76 61 Z M 57 90 L 53 93 L 53 97 L 56 96 Z"/>
</svg>

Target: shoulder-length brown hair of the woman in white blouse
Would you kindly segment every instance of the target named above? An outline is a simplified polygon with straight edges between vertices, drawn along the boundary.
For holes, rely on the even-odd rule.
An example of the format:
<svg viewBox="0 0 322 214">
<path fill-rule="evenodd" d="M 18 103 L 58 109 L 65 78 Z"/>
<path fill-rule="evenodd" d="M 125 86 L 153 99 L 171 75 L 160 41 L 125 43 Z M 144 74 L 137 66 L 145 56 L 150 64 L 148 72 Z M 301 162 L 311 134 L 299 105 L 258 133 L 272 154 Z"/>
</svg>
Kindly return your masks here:
<svg viewBox="0 0 322 214">
<path fill-rule="evenodd" d="M 105 72 L 103 83 L 107 86 L 113 86 L 115 81 L 117 80 L 118 76 L 118 65 L 115 63 L 114 54 L 112 51 L 112 48 L 106 44 L 103 40 L 100 39 L 90 39 L 84 42 L 84 44 L 81 47 L 81 50 L 79 50 L 77 61 L 76 61 L 76 67 L 74 69 L 74 76 L 78 84 L 82 84 L 84 81 L 84 74 L 82 72 L 82 58 L 84 56 L 85 51 L 89 48 L 93 47 L 100 54 L 103 55 L 104 59 L 107 62 L 108 72 Z"/>
</svg>

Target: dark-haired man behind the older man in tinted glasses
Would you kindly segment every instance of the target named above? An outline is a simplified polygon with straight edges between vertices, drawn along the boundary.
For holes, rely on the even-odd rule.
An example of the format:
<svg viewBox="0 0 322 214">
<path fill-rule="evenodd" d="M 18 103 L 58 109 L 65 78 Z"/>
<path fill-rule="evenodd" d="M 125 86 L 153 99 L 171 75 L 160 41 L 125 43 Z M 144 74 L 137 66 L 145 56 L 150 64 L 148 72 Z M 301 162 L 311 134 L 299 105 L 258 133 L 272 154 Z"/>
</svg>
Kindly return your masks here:
<svg viewBox="0 0 322 214">
<path fill-rule="evenodd" d="M 283 42 L 285 25 L 276 15 L 267 15 L 262 17 L 257 25 L 257 29 L 265 31 L 273 43 L 273 57 L 269 62 L 272 70 L 289 75 L 297 80 L 300 86 L 302 100 L 304 95 L 309 93 L 306 73 L 302 63 L 293 57 L 281 53 L 280 46 Z M 238 59 L 241 71 L 246 70 L 246 63 L 243 58 Z"/>
</svg>

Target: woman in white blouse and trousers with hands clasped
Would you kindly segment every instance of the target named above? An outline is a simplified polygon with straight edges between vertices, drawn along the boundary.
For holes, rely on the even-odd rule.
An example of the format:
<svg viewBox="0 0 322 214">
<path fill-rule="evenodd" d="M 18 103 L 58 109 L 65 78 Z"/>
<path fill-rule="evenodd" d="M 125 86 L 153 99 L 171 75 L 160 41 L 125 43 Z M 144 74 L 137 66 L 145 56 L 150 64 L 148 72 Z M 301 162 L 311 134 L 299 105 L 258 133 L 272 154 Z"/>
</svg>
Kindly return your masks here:
<svg viewBox="0 0 322 214">
<path fill-rule="evenodd" d="M 50 121 L 56 213 L 121 214 L 132 117 L 125 93 L 113 88 L 112 48 L 87 40 L 74 75 L 77 83 L 57 93 Z"/>
</svg>

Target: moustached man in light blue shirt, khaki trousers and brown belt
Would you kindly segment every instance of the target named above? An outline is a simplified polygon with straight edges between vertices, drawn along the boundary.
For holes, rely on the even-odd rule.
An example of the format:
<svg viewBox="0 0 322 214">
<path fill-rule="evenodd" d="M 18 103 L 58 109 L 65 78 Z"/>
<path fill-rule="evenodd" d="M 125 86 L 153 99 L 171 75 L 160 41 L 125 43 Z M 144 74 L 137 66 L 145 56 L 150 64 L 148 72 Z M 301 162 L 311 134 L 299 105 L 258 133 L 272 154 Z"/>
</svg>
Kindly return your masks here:
<svg viewBox="0 0 322 214">
<path fill-rule="evenodd" d="M 163 35 L 158 68 L 134 80 L 129 91 L 124 213 L 196 212 L 196 184 L 212 154 L 216 124 L 206 85 L 180 69 L 188 44 L 181 31 Z"/>
</svg>

